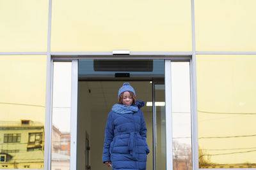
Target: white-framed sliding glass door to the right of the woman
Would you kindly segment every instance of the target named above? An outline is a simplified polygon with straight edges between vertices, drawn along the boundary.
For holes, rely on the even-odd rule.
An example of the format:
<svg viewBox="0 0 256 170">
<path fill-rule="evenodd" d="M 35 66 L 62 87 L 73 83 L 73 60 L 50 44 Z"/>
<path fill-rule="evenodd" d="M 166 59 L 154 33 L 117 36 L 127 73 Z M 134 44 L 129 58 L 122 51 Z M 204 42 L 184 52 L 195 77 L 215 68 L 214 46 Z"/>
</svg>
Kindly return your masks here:
<svg viewBox="0 0 256 170">
<path fill-rule="evenodd" d="M 192 169 L 190 62 L 165 61 L 166 169 Z"/>
</svg>

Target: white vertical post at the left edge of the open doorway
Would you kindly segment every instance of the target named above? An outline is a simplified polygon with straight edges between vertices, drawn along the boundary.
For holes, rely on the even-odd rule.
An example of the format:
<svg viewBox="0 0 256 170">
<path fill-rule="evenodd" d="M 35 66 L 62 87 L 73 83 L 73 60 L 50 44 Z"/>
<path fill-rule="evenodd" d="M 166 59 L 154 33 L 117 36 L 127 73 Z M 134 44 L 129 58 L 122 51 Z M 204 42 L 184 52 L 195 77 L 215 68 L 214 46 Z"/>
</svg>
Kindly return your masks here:
<svg viewBox="0 0 256 170">
<path fill-rule="evenodd" d="M 78 60 L 72 60 L 70 170 L 76 170 Z"/>
</svg>

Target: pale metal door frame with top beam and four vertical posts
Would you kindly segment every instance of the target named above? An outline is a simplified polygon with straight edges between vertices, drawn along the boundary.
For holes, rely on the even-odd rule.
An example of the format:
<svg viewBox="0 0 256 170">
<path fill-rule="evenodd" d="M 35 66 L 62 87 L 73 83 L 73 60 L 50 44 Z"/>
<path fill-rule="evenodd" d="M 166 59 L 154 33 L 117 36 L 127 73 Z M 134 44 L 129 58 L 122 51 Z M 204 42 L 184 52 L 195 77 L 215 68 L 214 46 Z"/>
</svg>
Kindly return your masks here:
<svg viewBox="0 0 256 170">
<path fill-rule="evenodd" d="M 45 118 L 48 118 L 51 122 L 52 113 L 52 64 L 54 61 L 72 61 L 72 101 L 71 101 L 71 136 L 70 136 L 70 169 L 76 170 L 76 150 L 77 150 L 77 86 L 78 86 L 78 59 L 164 59 L 164 85 L 165 85 L 165 103 L 166 103 L 166 113 L 172 111 L 172 76 L 171 76 L 171 61 L 189 61 L 190 65 L 190 89 L 191 89 L 191 137 L 192 137 L 192 164 L 193 169 L 198 169 L 198 141 L 197 141 L 197 103 L 196 103 L 196 62 L 195 55 L 52 55 L 50 63 L 47 63 L 47 83 L 49 85 L 50 92 L 47 95 L 47 108 Z M 48 61 L 49 62 L 49 61 Z M 45 121 L 46 122 L 46 121 Z M 49 127 L 45 128 L 45 132 L 49 134 L 45 141 L 47 151 L 45 156 L 45 167 L 51 169 L 51 129 L 52 124 L 48 124 Z M 173 159 L 172 159 L 172 114 L 166 114 L 166 169 L 173 169 Z M 153 146 L 154 148 L 154 146 Z M 48 156 L 47 156 L 48 155 Z M 168 161 L 170 160 L 170 161 Z M 156 167 L 156 166 L 153 166 Z M 155 169 L 154 169 L 155 170 Z"/>
</svg>

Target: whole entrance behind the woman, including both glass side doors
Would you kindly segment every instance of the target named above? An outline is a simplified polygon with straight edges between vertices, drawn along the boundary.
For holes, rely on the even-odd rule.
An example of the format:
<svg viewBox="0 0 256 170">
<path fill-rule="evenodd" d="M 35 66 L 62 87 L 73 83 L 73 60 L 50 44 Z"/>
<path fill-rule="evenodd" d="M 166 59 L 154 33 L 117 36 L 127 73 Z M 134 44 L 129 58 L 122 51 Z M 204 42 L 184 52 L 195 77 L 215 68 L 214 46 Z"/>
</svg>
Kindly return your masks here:
<svg viewBox="0 0 256 170">
<path fill-rule="evenodd" d="M 147 143 L 150 148 L 147 169 L 191 169 L 189 61 L 66 60 L 53 62 L 55 72 L 58 71 L 58 64 L 67 66 L 60 69 L 59 76 L 53 76 L 53 80 L 63 80 L 52 88 L 53 92 L 61 94 L 56 97 L 58 94 L 53 93 L 52 125 L 57 129 L 54 131 L 52 126 L 52 139 L 54 134 L 60 133 L 61 136 L 58 137 L 60 136 L 63 145 L 68 145 L 68 152 L 64 153 L 62 145 L 56 145 L 59 142 L 54 140 L 59 139 L 52 140 L 52 169 L 60 169 L 57 164 L 60 160 L 67 162 L 66 169 L 108 169 L 102 163 L 104 131 L 108 113 L 113 104 L 117 103 L 118 89 L 124 82 L 131 83 L 138 99 L 145 101 L 141 110 L 146 120 Z M 63 70 L 68 73 L 65 74 Z M 57 86 L 63 87 L 64 84 L 68 86 L 67 90 L 62 92 Z M 70 99 L 67 106 L 62 106 L 62 99 Z M 56 106 L 58 104 L 54 104 L 54 101 L 60 101 L 62 105 Z M 64 109 L 67 110 L 67 118 L 63 117 Z M 61 111 L 58 114 L 54 110 Z M 62 136 L 64 133 L 61 131 L 61 125 L 69 132 L 70 139 L 67 138 L 67 142 L 65 136 Z M 179 147 L 175 148 L 177 143 Z M 187 144 L 190 146 L 187 147 Z M 56 150 L 53 150 L 54 147 Z M 189 160 L 186 160 L 187 158 Z"/>
</svg>

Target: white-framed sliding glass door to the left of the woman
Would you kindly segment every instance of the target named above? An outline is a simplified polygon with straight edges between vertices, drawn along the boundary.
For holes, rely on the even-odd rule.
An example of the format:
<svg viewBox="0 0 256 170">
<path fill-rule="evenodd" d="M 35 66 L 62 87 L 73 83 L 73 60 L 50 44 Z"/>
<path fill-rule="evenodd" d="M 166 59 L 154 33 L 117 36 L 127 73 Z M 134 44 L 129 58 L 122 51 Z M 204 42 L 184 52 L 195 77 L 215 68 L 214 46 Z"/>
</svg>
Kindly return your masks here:
<svg viewBox="0 0 256 170">
<path fill-rule="evenodd" d="M 52 62 L 51 169 L 76 169 L 77 60 Z"/>
</svg>

